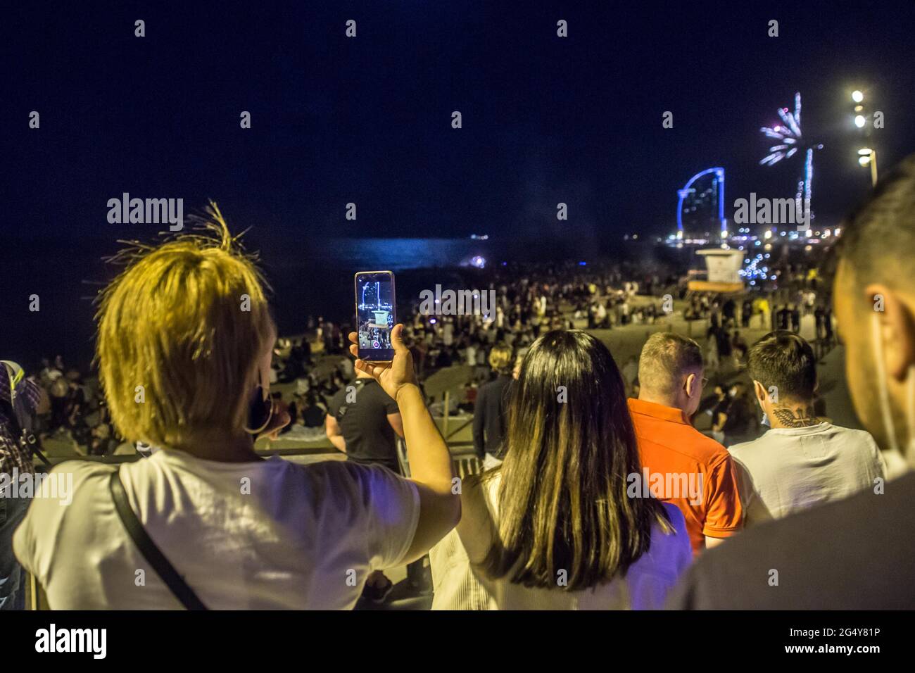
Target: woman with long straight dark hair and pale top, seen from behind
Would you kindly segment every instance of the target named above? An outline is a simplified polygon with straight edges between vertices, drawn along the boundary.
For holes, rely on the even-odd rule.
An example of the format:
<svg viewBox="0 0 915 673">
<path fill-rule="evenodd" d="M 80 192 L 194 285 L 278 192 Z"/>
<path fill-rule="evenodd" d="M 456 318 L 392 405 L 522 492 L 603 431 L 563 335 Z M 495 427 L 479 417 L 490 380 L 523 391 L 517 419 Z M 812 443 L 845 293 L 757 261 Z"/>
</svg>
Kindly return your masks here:
<svg viewBox="0 0 915 673">
<path fill-rule="evenodd" d="M 512 386 L 501 467 L 466 480 L 430 556 L 434 609 L 653 609 L 692 552 L 641 472 L 622 377 L 603 343 L 550 331 Z M 633 495 L 630 497 L 630 494 Z"/>
</svg>

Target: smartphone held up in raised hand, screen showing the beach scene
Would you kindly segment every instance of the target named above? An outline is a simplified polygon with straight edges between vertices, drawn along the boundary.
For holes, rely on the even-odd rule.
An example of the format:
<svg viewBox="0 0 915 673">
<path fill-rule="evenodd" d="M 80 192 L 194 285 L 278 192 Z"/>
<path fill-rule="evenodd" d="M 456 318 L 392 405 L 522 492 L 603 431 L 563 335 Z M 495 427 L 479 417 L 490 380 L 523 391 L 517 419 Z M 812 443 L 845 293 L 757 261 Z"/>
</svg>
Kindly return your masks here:
<svg viewBox="0 0 915 673">
<path fill-rule="evenodd" d="M 359 358 L 370 363 L 390 363 L 394 359 L 391 331 L 397 324 L 393 272 L 359 271 L 355 285 Z"/>
</svg>

